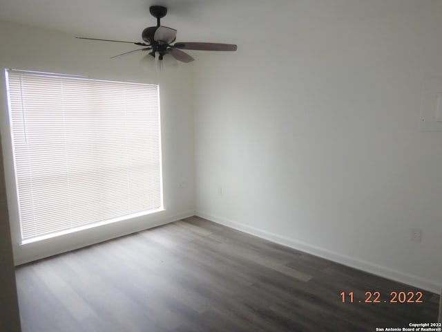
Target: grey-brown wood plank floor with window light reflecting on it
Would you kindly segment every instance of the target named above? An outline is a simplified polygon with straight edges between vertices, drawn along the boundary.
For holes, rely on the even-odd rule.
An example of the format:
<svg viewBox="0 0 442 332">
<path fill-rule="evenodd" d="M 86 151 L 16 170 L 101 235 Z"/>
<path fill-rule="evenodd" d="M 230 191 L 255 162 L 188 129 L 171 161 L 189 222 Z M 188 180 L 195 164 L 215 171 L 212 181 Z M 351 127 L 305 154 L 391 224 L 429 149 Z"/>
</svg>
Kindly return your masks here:
<svg viewBox="0 0 442 332">
<path fill-rule="evenodd" d="M 198 217 L 16 275 L 24 332 L 359 332 L 436 322 L 439 310 L 439 295 Z M 343 303 L 343 291 L 353 303 L 349 295 Z M 367 291 L 380 292 L 381 303 L 364 303 Z M 390 303 L 392 291 L 421 291 L 423 303 Z"/>
</svg>

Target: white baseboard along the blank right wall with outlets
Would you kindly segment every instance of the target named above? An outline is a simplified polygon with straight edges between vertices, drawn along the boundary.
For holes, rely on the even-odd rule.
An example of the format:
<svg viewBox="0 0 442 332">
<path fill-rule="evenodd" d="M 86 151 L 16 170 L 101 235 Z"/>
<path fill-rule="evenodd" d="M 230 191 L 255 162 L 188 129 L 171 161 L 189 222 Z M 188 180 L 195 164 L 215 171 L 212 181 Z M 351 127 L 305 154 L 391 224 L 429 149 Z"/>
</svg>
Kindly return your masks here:
<svg viewBox="0 0 442 332">
<path fill-rule="evenodd" d="M 289 239 L 287 237 L 282 237 L 278 234 L 273 234 L 271 232 L 267 232 L 265 230 L 259 230 L 258 228 L 253 228 L 248 225 L 244 225 L 242 223 L 238 223 L 236 221 L 231 221 L 220 216 L 215 216 L 213 214 L 209 214 L 203 211 L 195 212 L 197 216 L 201 218 L 213 221 L 215 223 L 220 223 L 221 225 L 225 225 L 230 228 L 234 228 L 236 230 L 240 230 L 241 232 L 245 232 L 256 237 L 260 237 L 262 239 L 266 239 L 282 246 L 287 246 L 289 248 L 293 248 L 296 250 L 300 250 L 303 252 L 307 252 L 311 255 L 315 255 L 318 257 L 323 257 L 325 259 L 329 259 L 331 261 L 335 261 L 336 263 L 343 264 L 345 266 L 349 266 L 352 268 L 356 268 L 358 270 L 363 270 L 367 273 L 372 273 L 374 275 L 378 275 L 380 277 L 385 277 L 387 279 L 394 280 L 396 282 L 401 282 L 403 284 L 407 284 L 410 286 L 418 287 L 424 289 L 425 291 L 430 291 L 432 293 L 440 294 L 442 289 L 442 284 L 422 277 L 418 277 L 416 275 L 411 275 L 410 273 L 404 273 L 398 270 L 393 270 L 392 268 L 387 268 L 385 266 L 380 266 L 378 264 L 371 263 L 369 261 L 363 261 L 362 259 L 357 259 L 355 257 L 349 257 L 347 255 L 342 255 L 338 252 L 333 252 L 331 250 L 327 250 L 325 248 L 320 248 L 317 246 L 311 246 L 307 243 L 302 243 L 300 241 L 295 241 L 293 239 Z"/>
</svg>

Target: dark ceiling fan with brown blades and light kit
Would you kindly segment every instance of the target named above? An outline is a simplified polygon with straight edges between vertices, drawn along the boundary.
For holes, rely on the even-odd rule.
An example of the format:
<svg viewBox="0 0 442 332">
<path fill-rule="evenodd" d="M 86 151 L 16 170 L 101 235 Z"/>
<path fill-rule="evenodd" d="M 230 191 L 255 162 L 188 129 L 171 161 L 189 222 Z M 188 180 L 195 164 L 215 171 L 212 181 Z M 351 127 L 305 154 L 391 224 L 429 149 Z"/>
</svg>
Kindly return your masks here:
<svg viewBox="0 0 442 332">
<path fill-rule="evenodd" d="M 135 44 L 137 46 L 145 46 L 137 50 L 131 50 L 126 53 L 115 55 L 112 58 L 120 57 L 129 53 L 142 52 L 150 50 L 146 57 L 151 56 L 153 58 L 157 57 L 158 60 L 162 60 L 165 55 L 172 55 L 175 59 L 180 62 L 188 63 L 192 62 L 194 59 L 191 55 L 185 53 L 182 50 L 236 50 L 237 46 L 235 44 L 219 44 L 219 43 L 199 43 L 199 42 L 175 42 L 177 30 L 169 28 L 167 26 L 162 26 L 160 24 L 160 19 L 162 19 L 167 14 L 167 8 L 163 6 L 151 6 L 149 8 L 151 15 L 157 19 L 157 26 L 150 26 L 145 28 L 142 32 L 142 39 L 144 42 L 124 42 L 121 40 L 112 39 L 97 39 L 97 38 L 87 38 L 87 37 L 77 37 L 79 39 L 90 39 L 90 40 L 100 40 L 103 42 L 117 42 L 117 43 L 128 43 Z"/>
</svg>

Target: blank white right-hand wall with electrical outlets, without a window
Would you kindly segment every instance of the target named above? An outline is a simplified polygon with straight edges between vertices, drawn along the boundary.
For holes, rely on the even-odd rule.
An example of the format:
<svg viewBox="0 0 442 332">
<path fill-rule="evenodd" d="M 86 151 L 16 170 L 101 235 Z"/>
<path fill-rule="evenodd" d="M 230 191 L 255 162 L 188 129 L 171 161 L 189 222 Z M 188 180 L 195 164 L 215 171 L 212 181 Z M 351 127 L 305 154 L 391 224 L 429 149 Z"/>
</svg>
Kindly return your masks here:
<svg viewBox="0 0 442 332">
<path fill-rule="evenodd" d="M 425 78 L 442 77 L 442 2 L 390 2 L 302 26 L 285 1 L 237 53 L 199 55 L 197 210 L 439 293 L 442 131 L 419 120 Z"/>
</svg>

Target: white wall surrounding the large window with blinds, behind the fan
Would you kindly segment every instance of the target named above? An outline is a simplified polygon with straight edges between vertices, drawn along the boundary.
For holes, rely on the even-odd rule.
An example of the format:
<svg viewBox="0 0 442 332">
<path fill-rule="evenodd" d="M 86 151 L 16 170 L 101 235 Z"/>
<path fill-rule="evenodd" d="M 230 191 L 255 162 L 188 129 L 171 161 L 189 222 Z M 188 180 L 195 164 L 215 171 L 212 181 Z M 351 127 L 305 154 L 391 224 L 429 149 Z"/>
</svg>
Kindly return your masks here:
<svg viewBox="0 0 442 332">
<path fill-rule="evenodd" d="M 162 161 L 164 205 L 157 214 L 104 225 L 93 230 L 19 246 L 17 209 L 14 196 L 8 197 L 11 216 L 12 245 L 15 263 L 53 255 L 90 243 L 128 234 L 162 223 L 193 215 L 193 72 L 192 66 L 181 66 L 174 73 L 155 75 L 138 64 L 144 55 L 128 55 L 109 59 L 112 55 L 135 49 L 127 44 L 90 42 L 73 35 L 57 33 L 0 21 L 0 68 L 86 75 L 104 80 L 128 80 L 160 84 L 162 115 Z M 3 74 L 2 74 L 3 77 Z M 190 84 L 189 84 L 190 83 Z M 4 79 L 0 84 L 0 122 L 5 151 L 6 186 L 12 190 L 12 161 Z M 2 174 L 3 176 L 3 174 Z"/>
</svg>

